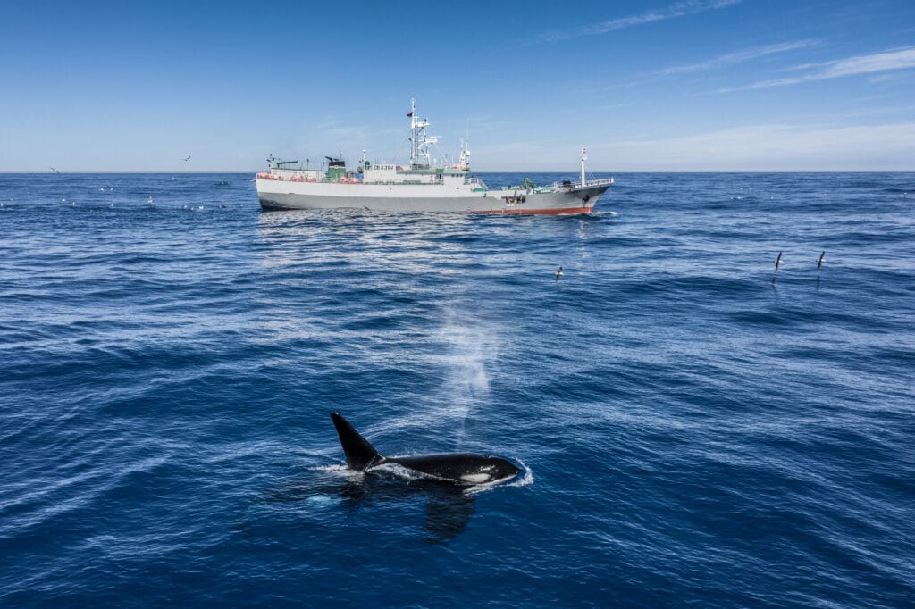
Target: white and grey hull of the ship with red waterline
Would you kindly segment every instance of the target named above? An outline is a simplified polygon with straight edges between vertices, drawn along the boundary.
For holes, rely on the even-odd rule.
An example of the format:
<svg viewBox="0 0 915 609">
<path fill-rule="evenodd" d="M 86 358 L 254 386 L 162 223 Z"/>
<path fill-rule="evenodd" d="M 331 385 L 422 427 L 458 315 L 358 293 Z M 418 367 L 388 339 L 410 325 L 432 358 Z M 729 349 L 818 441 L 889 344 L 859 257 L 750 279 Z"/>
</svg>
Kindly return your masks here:
<svg viewBox="0 0 915 609">
<path fill-rule="evenodd" d="M 264 209 L 363 208 L 378 211 L 580 214 L 592 211 L 597 199 L 613 180 L 556 187 L 549 192 L 522 188 L 474 192 L 463 185 L 336 184 L 286 182 L 260 177 L 256 182 L 257 197 Z"/>
</svg>

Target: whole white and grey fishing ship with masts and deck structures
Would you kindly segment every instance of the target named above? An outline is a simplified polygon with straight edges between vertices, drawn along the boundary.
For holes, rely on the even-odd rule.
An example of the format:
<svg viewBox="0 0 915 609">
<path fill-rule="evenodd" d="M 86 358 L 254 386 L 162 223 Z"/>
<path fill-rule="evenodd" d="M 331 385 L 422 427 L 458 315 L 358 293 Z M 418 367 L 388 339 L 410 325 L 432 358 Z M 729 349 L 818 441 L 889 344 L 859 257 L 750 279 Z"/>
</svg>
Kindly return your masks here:
<svg viewBox="0 0 915 609">
<path fill-rule="evenodd" d="M 264 209 L 364 208 L 379 211 L 467 212 L 484 214 L 590 213 L 613 178 L 587 180 L 586 151 L 581 151 L 580 179 L 538 186 L 524 178 L 519 186 L 490 189 L 470 175 L 467 142 L 456 163 L 432 162 L 436 135 L 427 133 L 428 119 L 419 119 L 410 101 L 410 162 L 374 164 L 362 152 L 355 171 L 327 156 L 327 167 L 293 167 L 298 161 L 267 159 L 268 170 L 257 174 L 257 198 Z"/>
</svg>

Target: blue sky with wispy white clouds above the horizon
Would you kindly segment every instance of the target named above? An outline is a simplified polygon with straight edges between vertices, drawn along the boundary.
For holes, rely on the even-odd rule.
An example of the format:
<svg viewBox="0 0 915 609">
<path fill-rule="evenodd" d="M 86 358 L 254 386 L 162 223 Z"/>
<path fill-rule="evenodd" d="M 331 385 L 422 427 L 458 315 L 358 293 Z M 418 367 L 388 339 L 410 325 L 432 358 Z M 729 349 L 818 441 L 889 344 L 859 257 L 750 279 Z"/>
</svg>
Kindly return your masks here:
<svg viewBox="0 0 915 609">
<path fill-rule="evenodd" d="M 915 2 L 16 2 L 0 172 L 915 170 Z M 189 161 L 184 157 L 191 155 Z M 313 161 L 314 163 L 314 161 Z"/>
</svg>

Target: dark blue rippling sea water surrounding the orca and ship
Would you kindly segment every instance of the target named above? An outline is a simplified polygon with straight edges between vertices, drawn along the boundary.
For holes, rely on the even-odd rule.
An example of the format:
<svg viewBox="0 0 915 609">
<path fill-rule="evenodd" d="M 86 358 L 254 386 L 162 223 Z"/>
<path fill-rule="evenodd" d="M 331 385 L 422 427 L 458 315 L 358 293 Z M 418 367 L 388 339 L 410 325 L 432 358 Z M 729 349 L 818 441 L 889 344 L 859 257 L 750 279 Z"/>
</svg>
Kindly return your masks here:
<svg viewBox="0 0 915 609">
<path fill-rule="evenodd" d="M 915 175 L 552 218 L 252 177 L 0 176 L 0 604 L 911 606 Z M 353 474 L 331 410 L 524 472 Z"/>
</svg>

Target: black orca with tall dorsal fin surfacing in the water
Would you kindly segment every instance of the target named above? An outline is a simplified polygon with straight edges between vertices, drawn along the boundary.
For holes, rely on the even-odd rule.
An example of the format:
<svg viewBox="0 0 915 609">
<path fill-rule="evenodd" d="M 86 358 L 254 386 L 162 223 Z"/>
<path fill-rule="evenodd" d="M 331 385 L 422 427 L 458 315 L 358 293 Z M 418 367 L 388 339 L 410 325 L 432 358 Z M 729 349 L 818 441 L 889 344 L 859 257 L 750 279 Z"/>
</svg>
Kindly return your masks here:
<svg viewBox="0 0 915 609">
<path fill-rule="evenodd" d="M 455 485 L 484 485 L 510 480 L 521 473 L 511 461 L 486 454 L 449 453 L 385 457 L 363 438 L 339 412 L 331 412 L 350 469 L 372 473 L 379 465 L 395 464 L 426 478 Z M 378 470 L 376 470 L 378 471 Z M 383 471 L 383 468 L 382 470 Z"/>
</svg>

